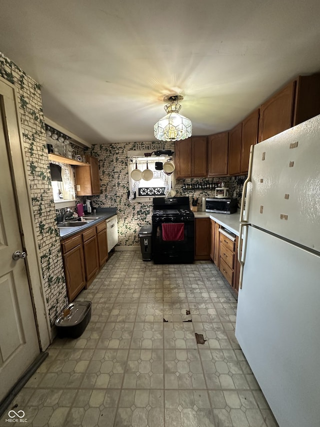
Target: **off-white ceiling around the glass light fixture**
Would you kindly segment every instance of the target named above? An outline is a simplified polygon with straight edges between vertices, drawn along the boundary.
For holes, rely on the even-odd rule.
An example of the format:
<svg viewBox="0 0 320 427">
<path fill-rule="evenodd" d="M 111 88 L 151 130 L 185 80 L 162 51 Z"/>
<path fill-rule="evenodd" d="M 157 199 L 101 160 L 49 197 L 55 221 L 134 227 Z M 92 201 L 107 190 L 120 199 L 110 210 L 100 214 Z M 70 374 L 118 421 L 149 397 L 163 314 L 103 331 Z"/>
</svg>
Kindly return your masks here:
<svg viewBox="0 0 320 427">
<path fill-rule="evenodd" d="M 167 94 L 209 135 L 320 71 L 319 16 L 318 0 L 4 0 L 0 52 L 90 144 L 153 141 Z"/>
</svg>

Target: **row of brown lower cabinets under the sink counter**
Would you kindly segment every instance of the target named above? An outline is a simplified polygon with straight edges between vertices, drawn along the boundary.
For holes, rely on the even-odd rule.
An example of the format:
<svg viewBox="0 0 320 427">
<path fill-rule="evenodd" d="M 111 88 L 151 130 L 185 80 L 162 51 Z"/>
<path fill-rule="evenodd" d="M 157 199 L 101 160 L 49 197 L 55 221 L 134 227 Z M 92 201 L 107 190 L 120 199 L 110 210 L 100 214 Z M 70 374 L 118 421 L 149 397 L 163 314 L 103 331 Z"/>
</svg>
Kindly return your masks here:
<svg viewBox="0 0 320 427">
<path fill-rule="evenodd" d="M 88 287 L 108 257 L 105 221 L 61 240 L 69 302 Z"/>
</svg>

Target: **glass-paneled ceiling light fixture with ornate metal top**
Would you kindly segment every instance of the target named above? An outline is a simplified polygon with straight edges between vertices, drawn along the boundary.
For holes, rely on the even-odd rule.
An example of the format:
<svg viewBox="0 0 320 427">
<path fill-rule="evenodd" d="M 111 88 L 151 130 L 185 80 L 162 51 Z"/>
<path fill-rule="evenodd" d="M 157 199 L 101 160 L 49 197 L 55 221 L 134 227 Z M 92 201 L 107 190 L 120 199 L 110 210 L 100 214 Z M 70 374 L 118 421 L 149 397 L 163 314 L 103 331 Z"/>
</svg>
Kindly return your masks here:
<svg viewBox="0 0 320 427">
<path fill-rule="evenodd" d="M 164 97 L 163 101 L 169 101 L 169 104 L 164 107 L 167 114 L 154 125 L 156 139 L 160 141 L 179 141 L 191 136 L 191 120 L 179 114 L 181 105 L 178 104 L 178 101 L 182 99 L 181 95 Z"/>
</svg>

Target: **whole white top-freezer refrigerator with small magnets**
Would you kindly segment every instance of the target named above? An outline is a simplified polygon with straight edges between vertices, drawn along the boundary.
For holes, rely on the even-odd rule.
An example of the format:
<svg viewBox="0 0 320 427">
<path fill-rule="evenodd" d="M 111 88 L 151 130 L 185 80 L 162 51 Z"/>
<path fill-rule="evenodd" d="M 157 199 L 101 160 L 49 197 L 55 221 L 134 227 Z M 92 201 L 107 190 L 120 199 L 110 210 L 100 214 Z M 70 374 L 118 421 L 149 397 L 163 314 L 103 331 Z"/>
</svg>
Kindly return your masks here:
<svg viewBox="0 0 320 427">
<path fill-rule="evenodd" d="M 280 427 L 320 425 L 320 116 L 251 147 L 235 336 Z"/>
</svg>

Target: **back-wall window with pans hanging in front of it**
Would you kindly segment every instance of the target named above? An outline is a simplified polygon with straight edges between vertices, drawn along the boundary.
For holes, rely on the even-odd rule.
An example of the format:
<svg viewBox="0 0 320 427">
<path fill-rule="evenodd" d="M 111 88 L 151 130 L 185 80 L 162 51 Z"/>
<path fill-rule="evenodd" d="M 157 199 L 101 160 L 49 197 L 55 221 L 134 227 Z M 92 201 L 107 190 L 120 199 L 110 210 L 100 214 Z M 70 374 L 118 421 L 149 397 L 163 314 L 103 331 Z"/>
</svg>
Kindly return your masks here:
<svg viewBox="0 0 320 427">
<path fill-rule="evenodd" d="M 171 157 L 144 157 L 143 153 L 140 156 L 138 154 L 140 153 L 136 151 L 128 152 L 129 200 L 150 201 L 153 197 L 166 196 L 171 190 L 172 175 L 166 175 L 163 170 L 160 170 L 158 163 L 163 164 L 163 162 L 171 159 Z M 148 162 L 148 169 L 152 171 L 153 178 L 149 181 L 142 178 L 139 181 L 134 181 L 131 178 L 131 172 L 135 169 L 135 162 L 137 169 L 141 172 L 146 169 L 146 162 Z"/>
</svg>

